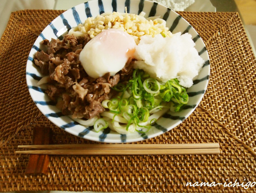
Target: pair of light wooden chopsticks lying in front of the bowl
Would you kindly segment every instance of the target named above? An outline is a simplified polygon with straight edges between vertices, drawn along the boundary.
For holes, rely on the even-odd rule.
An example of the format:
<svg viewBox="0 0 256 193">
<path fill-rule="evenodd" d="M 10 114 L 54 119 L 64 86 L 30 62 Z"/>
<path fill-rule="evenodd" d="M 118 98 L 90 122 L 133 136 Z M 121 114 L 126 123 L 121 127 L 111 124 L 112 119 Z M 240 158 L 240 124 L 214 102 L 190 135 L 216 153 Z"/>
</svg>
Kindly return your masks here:
<svg viewBox="0 0 256 193">
<path fill-rule="evenodd" d="M 15 154 L 184 155 L 220 153 L 218 143 L 19 145 L 18 148 L 30 148 L 33 150 L 16 151 Z"/>
</svg>

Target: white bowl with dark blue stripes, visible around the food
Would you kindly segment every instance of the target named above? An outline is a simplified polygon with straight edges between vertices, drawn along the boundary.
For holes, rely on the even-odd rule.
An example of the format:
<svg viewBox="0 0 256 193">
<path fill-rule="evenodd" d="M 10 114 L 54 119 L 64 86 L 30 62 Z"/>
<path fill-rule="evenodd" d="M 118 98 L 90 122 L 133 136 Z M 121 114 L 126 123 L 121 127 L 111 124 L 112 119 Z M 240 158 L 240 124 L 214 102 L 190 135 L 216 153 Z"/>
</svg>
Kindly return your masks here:
<svg viewBox="0 0 256 193">
<path fill-rule="evenodd" d="M 85 127 L 78 122 L 73 121 L 68 116 L 63 116 L 60 110 L 55 107 L 54 102 L 50 101 L 45 93 L 46 86 L 37 87 L 37 82 L 42 78 L 38 67 L 34 64 L 34 54 L 41 50 L 40 42 L 43 39 L 59 38 L 67 34 L 68 30 L 83 23 L 87 17 L 97 16 L 103 12 L 125 12 L 127 7 L 128 13 L 139 14 L 141 11 L 146 12 L 146 16 L 158 16 L 166 20 L 167 27 L 172 33 L 186 33 L 192 35 L 193 41 L 196 43 L 200 56 L 205 63 L 199 75 L 194 80 L 192 87 L 188 89 L 189 102 L 184 110 L 178 113 L 168 112 L 161 117 L 157 123 L 147 133 L 130 133 L 127 135 L 120 135 L 106 128 L 100 132 L 94 132 L 93 127 Z M 27 86 L 30 95 L 37 105 L 38 109 L 55 125 L 64 129 L 68 133 L 93 141 L 101 141 L 107 143 L 124 143 L 141 141 L 151 137 L 161 135 L 170 129 L 173 129 L 185 120 L 196 108 L 202 100 L 206 91 L 208 79 L 210 75 L 210 61 L 206 47 L 197 34 L 195 29 L 176 12 L 166 8 L 160 4 L 148 0 L 92 0 L 86 3 L 79 4 L 58 16 L 54 19 L 39 35 L 35 41 L 26 67 Z"/>
</svg>

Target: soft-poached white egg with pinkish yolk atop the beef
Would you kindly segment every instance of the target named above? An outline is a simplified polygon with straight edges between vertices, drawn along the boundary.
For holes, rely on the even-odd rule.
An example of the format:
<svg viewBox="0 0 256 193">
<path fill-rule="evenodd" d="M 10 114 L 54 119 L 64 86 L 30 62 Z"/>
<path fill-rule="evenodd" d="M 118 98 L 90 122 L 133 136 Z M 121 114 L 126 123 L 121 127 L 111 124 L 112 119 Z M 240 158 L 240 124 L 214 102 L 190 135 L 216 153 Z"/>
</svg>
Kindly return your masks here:
<svg viewBox="0 0 256 193">
<path fill-rule="evenodd" d="M 80 53 L 79 60 L 86 73 L 98 78 L 110 72 L 115 75 L 133 58 L 136 43 L 131 35 L 118 30 L 104 30 L 91 39 Z"/>
</svg>

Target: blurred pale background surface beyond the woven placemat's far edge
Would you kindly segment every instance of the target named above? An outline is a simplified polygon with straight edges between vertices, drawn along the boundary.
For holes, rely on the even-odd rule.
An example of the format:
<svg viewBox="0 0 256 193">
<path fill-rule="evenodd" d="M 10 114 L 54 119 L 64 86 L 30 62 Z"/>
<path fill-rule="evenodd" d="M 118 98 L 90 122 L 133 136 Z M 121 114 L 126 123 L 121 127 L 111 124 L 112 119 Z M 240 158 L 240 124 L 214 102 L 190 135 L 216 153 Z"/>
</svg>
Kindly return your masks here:
<svg viewBox="0 0 256 193">
<path fill-rule="evenodd" d="M 10 14 L 13 11 L 25 9 L 67 10 L 85 1 L 86 0 L 0 0 L 0 37 L 3 35 Z M 169 5 L 171 0 L 153 1 Z M 173 2 L 182 2 L 183 7 L 186 3 L 191 4 L 191 2 L 194 2 L 187 7 L 185 11 L 239 12 L 254 53 L 256 53 L 256 0 L 173 0 Z"/>
</svg>

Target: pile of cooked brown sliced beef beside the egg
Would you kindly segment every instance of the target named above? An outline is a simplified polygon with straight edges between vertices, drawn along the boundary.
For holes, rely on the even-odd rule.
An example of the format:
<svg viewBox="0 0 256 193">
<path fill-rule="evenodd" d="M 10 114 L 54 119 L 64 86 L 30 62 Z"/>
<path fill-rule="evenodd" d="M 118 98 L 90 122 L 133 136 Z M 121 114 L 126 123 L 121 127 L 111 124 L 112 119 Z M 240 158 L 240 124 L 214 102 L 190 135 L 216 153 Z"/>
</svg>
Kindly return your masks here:
<svg viewBox="0 0 256 193">
<path fill-rule="evenodd" d="M 87 37 L 65 35 L 63 40 L 44 40 L 47 50 L 35 54 L 35 63 L 45 75 L 50 75 L 46 93 L 57 102 L 64 115 L 74 118 L 93 118 L 105 109 L 101 102 L 116 95 L 111 87 L 132 75 L 132 65 L 125 65 L 114 76 L 106 73 L 97 79 L 87 75 L 79 61 Z M 60 99 L 62 98 L 62 99 Z"/>
</svg>

